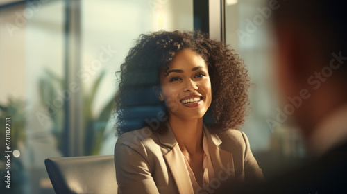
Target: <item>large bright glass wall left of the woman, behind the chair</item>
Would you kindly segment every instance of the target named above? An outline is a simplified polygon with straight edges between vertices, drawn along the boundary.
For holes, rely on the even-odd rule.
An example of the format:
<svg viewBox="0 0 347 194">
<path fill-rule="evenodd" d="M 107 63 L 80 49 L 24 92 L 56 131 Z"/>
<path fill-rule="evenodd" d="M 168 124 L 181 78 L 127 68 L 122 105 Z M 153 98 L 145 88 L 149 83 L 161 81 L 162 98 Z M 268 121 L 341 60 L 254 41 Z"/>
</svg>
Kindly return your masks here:
<svg viewBox="0 0 347 194">
<path fill-rule="evenodd" d="M 142 33 L 193 30 L 192 0 L 71 2 L 0 3 L 0 117 L 13 153 L 12 188 L 1 159 L 0 193 L 54 193 L 47 157 L 112 155 L 115 72 L 129 48 Z"/>
</svg>

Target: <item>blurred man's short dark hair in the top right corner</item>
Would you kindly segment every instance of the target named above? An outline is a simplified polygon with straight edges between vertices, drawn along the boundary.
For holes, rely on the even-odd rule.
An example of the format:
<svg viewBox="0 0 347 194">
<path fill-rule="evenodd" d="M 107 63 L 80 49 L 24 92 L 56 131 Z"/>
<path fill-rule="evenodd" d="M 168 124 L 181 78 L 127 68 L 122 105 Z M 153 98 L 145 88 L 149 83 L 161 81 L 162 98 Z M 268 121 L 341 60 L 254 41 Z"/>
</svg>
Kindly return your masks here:
<svg viewBox="0 0 347 194">
<path fill-rule="evenodd" d="M 273 0 L 270 0 L 273 1 Z M 273 11 L 273 25 L 293 27 L 298 33 L 310 33 L 319 48 L 319 58 L 329 64 L 332 53 L 347 56 L 347 1 L 346 0 L 287 0 L 279 1 L 280 7 Z M 347 75 L 347 65 L 339 68 L 341 78 Z M 347 79 L 346 79 L 347 80 Z"/>
</svg>

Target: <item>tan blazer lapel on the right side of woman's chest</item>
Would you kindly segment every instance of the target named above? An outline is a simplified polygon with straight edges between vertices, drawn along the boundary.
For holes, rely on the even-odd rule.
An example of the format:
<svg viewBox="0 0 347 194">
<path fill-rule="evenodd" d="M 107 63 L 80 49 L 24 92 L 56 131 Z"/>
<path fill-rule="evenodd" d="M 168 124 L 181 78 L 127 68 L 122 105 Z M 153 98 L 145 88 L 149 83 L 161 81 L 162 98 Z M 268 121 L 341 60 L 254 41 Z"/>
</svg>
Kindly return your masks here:
<svg viewBox="0 0 347 194">
<path fill-rule="evenodd" d="M 222 143 L 217 134 L 211 134 L 208 129 L 203 127 L 206 139 L 208 139 L 208 151 L 210 153 L 212 166 L 214 168 L 214 177 L 235 178 L 235 167 L 232 153 L 219 148 Z M 222 175 L 221 175 L 222 174 Z"/>
</svg>

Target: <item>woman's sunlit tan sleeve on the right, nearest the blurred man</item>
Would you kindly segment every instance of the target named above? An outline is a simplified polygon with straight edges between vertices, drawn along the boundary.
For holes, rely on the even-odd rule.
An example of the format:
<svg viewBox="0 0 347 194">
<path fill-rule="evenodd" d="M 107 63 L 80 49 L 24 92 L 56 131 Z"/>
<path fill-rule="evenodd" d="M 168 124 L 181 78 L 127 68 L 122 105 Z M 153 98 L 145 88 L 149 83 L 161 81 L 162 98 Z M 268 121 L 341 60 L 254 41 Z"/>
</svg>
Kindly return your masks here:
<svg viewBox="0 0 347 194">
<path fill-rule="evenodd" d="M 244 132 L 241 132 L 244 137 L 246 144 L 245 155 L 244 155 L 244 176 L 246 182 L 260 182 L 264 180 L 262 169 L 259 168 L 257 161 L 255 160 L 251 148 L 249 145 L 248 138 Z"/>
</svg>

